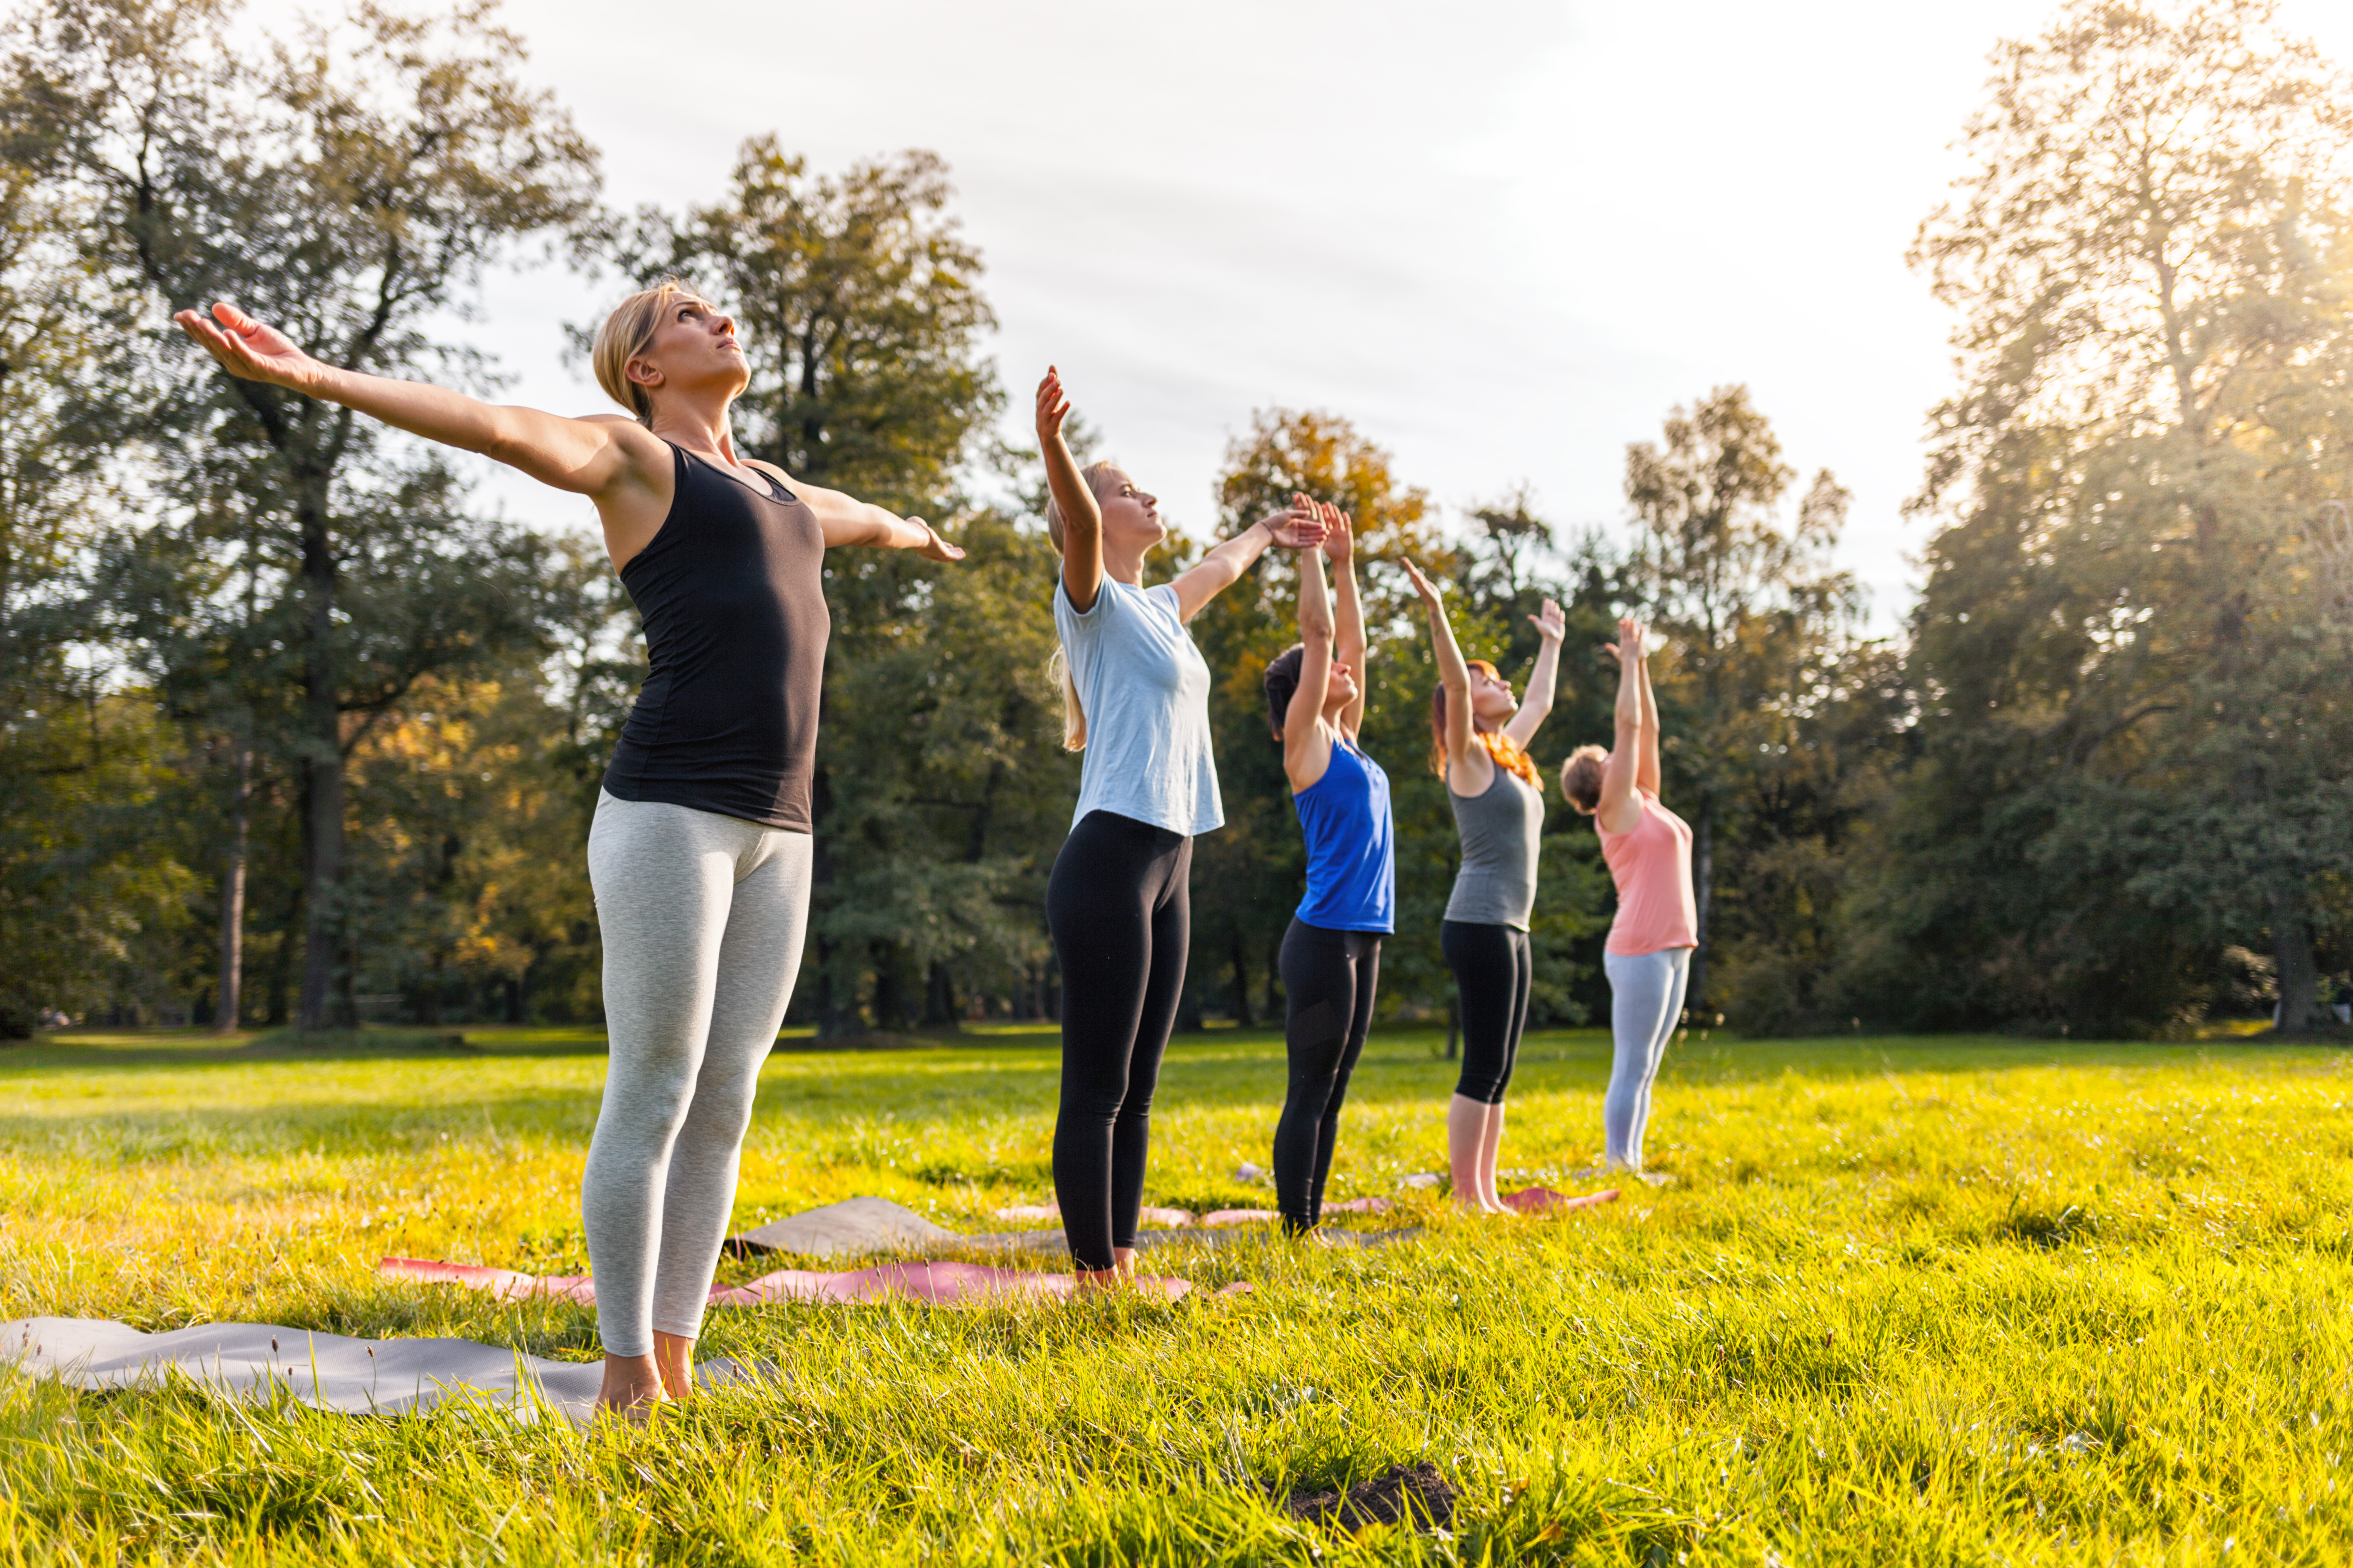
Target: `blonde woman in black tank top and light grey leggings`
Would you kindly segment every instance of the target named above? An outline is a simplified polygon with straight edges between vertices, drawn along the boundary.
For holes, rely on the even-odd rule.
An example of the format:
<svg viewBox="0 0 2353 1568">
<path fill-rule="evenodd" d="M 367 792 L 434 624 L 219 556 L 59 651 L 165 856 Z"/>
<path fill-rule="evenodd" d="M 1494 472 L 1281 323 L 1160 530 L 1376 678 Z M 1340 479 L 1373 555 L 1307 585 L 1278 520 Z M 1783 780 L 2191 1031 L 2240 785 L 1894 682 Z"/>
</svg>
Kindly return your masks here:
<svg viewBox="0 0 2353 1568">
<path fill-rule="evenodd" d="M 692 1387 L 692 1345 L 734 1204 L 736 1150 L 776 1041 L 809 903 L 809 776 L 831 630 L 828 545 L 962 550 L 920 517 L 744 461 L 736 329 L 675 280 L 598 331 L 631 411 L 562 418 L 320 364 L 228 303 L 174 317 L 231 376 L 339 402 L 588 496 L 645 618 L 588 870 L 612 1067 L 581 1190 L 609 1408 Z"/>
</svg>

